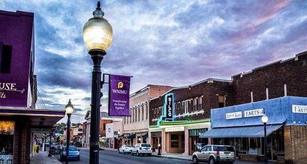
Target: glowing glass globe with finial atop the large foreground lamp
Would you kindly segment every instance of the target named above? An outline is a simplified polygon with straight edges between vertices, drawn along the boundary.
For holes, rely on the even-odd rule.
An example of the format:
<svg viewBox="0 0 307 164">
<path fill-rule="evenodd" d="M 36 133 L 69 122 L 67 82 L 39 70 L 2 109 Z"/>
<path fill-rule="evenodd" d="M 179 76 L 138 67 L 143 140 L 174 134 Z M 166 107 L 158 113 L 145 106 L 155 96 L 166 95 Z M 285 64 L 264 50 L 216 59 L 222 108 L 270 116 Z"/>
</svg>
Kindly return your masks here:
<svg viewBox="0 0 307 164">
<path fill-rule="evenodd" d="M 104 13 L 100 9 L 100 2 L 90 18 L 83 27 L 83 40 L 89 50 L 106 50 L 112 42 L 113 30 L 111 24 L 103 18 Z"/>
</svg>

